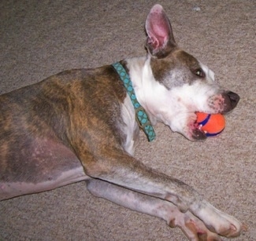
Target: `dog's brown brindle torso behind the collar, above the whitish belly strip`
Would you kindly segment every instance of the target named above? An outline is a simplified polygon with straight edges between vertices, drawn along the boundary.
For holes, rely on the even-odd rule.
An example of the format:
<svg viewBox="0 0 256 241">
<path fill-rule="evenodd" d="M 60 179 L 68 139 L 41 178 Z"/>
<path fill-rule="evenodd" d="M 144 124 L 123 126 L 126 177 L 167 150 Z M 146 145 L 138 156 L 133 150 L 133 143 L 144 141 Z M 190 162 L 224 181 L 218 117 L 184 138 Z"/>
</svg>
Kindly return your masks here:
<svg viewBox="0 0 256 241">
<path fill-rule="evenodd" d="M 0 162 L 0 181 L 36 184 L 54 180 L 61 171 L 77 166 L 71 160 L 79 152 L 87 156 L 87 162 L 94 162 L 95 153 L 103 152 L 104 147 L 122 146 L 121 103 L 125 96 L 124 86 L 110 66 L 64 71 L 3 94 L 0 159 L 10 161 Z M 77 145 L 83 148 L 74 148 Z M 58 162 L 62 162 L 61 170 Z"/>
</svg>

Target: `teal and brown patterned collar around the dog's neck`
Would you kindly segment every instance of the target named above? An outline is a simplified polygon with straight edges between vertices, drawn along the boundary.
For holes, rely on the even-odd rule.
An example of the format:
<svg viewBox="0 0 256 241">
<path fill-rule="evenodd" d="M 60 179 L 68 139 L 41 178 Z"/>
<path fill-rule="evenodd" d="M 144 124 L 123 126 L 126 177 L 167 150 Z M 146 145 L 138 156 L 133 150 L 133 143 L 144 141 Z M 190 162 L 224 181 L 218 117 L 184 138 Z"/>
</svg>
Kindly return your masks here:
<svg viewBox="0 0 256 241">
<path fill-rule="evenodd" d="M 145 111 L 145 109 L 139 104 L 134 89 L 132 87 L 132 81 L 125 71 L 122 64 L 119 62 L 112 64 L 113 68 L 117 71 L 122 82 L 124 82 L 124 87 L 127 90 L 129 97 L 132 100 L 132 104 L 135 108 L 135 117 L 136 121 L 138 122 L 139 127 L 146 133 L 148 141 L 153 141 L 155 138 L 155 133 L 153 126 L 151 126 L 150 119 Z"/>
</svg>

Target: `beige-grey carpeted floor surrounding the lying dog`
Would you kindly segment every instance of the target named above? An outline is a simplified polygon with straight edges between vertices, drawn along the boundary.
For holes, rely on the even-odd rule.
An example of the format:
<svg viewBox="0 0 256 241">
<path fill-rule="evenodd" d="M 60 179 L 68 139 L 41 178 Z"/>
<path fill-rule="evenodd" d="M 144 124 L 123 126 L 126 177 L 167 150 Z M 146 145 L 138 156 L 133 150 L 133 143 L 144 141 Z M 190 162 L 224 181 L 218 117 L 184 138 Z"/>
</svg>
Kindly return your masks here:
<svg viewBox="0 0 256 241">
<path fill-rule="evenodd" d="M 144 22 L 154 1 L 0 1 L 0 93 L 69 68 L 145 53 Z M 136 156 L 191 184 L 247 224 L 256 240 L 256 2 L 161 0 L 176 41 L 239 93 L 219 137 L 192 143 L 158 124 Z M 195 7 L 199 7 L 195 11 Z M 186 240 L 178 228 L 97 199 L 83 182 L 0 203 L 0 240 Z"/>
</svg>

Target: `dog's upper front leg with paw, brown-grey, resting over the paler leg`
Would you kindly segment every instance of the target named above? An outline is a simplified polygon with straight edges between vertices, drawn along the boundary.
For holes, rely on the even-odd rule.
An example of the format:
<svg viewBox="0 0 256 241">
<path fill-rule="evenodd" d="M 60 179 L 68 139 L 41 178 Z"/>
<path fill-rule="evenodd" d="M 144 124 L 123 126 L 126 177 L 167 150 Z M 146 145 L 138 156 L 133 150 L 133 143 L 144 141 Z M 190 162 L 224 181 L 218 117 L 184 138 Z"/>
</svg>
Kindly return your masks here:
<svg viewBox="0 0 256 241">
<path fill-rule="evenodd" d="M 239 236 L 242 225 L 235 217 L 222 213 L 207 203 L 193 188 L 173 177 L 158 173 L 124 151 L 103 148 L 102 158 L 90 162 L 86 173 L 124 188 L 135 190 L 174 203 L 185 213 L 190 211 L 202 220 L 211 232 L 221 236 Z M 110 155 L 111 154 L 111 155 Z M 86 163 L 83 163 L 85 166 Z"/>
</svg>

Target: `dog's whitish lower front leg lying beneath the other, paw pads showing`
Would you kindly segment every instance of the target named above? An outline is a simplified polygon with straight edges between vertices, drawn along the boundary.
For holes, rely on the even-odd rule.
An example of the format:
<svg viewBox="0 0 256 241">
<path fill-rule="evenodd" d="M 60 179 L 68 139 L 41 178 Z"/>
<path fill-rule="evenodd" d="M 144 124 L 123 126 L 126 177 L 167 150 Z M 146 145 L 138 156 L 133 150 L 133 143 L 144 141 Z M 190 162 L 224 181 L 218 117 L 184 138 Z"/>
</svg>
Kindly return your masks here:
<svg viewBox="0 0 256 241">
<path fill-rule="evenodd" d="M 182 213 L 173 203 L 163 199 L 143 195 L 98 179 L 87 181 L 87 189 L 95 196 L 108 199 L 131 210 L 160 217 L 167 221 L 171 228 L 180 227 L 190 240 L 221 240 L 217 234 L 210 232 L 206 225 L 191 212 Z"/>
</svg>

